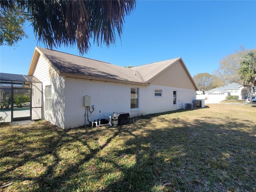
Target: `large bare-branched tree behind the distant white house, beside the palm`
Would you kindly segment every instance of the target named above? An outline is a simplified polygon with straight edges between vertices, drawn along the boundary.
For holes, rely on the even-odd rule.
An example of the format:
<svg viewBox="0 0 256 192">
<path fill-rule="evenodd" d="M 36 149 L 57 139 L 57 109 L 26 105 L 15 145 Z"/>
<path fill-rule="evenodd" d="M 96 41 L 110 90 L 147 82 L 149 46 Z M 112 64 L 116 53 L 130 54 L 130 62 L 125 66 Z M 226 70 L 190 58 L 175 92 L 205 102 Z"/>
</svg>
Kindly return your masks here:
<svg viewBox="0 0 256 192">
<path fill-rule="evenodd" d="M 240 50 L 235 50 L 234 54 L 229 54 L 228 56 L 222 58 L 219 62 L 219 68 L 215 71 L 215 75 L 224 82 L 224 84 L 236 82 L 240 85 L 243 84 L 243 81 L 238 74 L 240 68 L 240 63 L 243 61 L 244 56 L 252 50 L 245 50 L 240 46 Z M 256 51 L 256 49 L 254 49 Z"/>
</svg>

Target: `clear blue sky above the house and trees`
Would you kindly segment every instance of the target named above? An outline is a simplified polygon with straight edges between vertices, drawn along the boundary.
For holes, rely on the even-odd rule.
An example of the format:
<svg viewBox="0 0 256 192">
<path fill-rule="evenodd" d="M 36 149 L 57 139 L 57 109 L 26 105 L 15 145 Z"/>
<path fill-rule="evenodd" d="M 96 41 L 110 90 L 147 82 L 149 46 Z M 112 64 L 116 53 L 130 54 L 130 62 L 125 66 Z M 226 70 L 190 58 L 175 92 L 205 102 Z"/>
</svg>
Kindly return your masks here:
<svg viewBox="0 0 256 192">
<path fill-rule="evenodd" d="M 0 71 L 27 74 L 35 46 L 32 27 L 16 47 L 1 46 Z M 125 18 L 116 46 L 92 46 L 84 57 L 119 66 L 139 66 L 182 57 L 190 74 L 212 74 L 219 61 L 239 50 L 256 48 L 256 1 L 137 1 Z M 57 48 L 79 55 L 76 47 Z"/>
</svg>

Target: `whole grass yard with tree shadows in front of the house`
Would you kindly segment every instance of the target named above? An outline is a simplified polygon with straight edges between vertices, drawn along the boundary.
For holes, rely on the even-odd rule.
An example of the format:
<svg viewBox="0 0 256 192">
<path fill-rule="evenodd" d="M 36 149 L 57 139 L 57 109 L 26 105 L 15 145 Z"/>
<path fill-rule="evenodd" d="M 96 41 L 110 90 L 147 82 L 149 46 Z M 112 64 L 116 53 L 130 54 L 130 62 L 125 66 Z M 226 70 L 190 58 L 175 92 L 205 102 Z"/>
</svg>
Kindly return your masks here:
<svg viewBox="0 0 256 192">
<path fill-rule="evenodd" d="M 117 127 L 0 128 L 6 192 L 256 192 L 256 105 L 208 104 Z"/>
</svg>

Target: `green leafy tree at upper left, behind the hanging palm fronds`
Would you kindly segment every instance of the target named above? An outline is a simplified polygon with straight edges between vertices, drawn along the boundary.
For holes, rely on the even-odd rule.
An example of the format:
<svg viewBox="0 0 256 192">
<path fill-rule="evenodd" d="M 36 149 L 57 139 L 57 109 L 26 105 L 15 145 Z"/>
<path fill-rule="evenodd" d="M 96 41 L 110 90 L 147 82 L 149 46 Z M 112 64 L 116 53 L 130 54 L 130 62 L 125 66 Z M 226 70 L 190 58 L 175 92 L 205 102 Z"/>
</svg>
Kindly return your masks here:
<svg viewBox="0 0 256 192">
<path fill-rule="evenodd" d="M 4 10 L 0 7 L 0 46 L 14 46 L 24 37 L 28 37 L 24 32 L 26 17 L 21 12 L 14 9 Z"/>
</svg>

